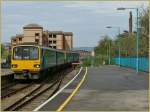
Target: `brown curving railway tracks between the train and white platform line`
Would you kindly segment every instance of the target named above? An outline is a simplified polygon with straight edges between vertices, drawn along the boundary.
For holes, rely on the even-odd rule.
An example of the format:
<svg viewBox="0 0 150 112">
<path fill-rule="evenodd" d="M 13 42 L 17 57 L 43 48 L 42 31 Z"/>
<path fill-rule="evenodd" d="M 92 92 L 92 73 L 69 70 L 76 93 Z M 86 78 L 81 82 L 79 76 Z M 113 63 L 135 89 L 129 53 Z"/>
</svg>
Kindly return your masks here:
<svg viewBox="0 0 150 112">
<path fill-rule="evenodd" d="M 71 70 L 67 72 L 70 71 Z M 38 97 L 43 96 L 43 94 L 46 92 L 48 93 L 47 98 L 52 96 L 59 89 L 65 73 L 66 71 L 59 73 L 57 77 L 53 79 L 53 81 L 46 79 L 43 83 L 40 84 L 26 84 L 20 88 L 18 87 L 18 89 L 16 90 L 9 90 L 7 92 L 4 92 L 5 94 L 3 93 L 1 97 L 2 110 L 31 110 L 31 108 L 28 109 L 29 106 L 26 105 L 32 103 L 32 101 L 35 101 Z"/>
</svg>

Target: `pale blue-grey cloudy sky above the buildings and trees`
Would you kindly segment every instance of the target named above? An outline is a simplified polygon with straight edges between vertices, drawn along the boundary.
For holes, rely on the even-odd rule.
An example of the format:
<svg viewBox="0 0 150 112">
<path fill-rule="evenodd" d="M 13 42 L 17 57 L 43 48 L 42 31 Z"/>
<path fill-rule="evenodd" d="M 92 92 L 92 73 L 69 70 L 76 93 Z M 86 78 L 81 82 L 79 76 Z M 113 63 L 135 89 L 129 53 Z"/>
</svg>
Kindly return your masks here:
<svg viewBox="0 0 150 112">
<path fill-rule="evenodd" d="M 129 11 L 118 7 L 148 7 L 148 1 L 40 1 L 2 3 L 2 42 L 10 42 L 11 36 L 23 33 L 23 26 L 37 23 L 44 30 L 73 32 L 74 47 L 95 47 L 104 35 L 115 38 L 116 28 L 128 30 Z M 135 29 L 136 11 L 133 13 Z"/>
</svg>

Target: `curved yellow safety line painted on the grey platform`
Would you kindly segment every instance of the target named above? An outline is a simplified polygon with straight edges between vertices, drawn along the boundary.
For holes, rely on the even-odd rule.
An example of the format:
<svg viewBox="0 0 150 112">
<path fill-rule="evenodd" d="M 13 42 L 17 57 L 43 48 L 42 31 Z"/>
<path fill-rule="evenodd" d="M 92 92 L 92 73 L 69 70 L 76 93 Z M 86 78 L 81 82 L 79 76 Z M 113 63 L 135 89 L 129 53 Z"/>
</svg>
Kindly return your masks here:
<svg viewBox="0 0 150 112">
<path fill-rule="evenodd" d="M 86 72 L 85 72 L 82 80 L 80 81 L 80 83 L 77 85 L 77 87 L 73 90 L 73 92 L 70 94 L 70 96 L 64 101 L 64 103 L 62 105 L 60 105 L 60 107 L 56 111 L 62 111 L 64 109 L 64 107 L 70 102 L 70 100 L 72 99 L 72 97 L 79 90 L 81 84 L 84 82 L 86 75 L 87 75 L 87 67 L 86 67 Z"/>
</svg>

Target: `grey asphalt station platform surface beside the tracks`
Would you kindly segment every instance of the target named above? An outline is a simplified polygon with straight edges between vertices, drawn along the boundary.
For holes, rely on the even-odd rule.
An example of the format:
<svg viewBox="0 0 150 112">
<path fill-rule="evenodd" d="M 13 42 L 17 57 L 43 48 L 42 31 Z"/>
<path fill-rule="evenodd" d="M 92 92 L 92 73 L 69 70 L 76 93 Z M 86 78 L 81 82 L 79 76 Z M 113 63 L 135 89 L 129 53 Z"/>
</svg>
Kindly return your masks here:
<svg viewBox="0 0 150 112">
<path fill-rule="evenodd" d="M 68 99 L 82 76 L 78 77 L 40 111 L 56 111 Z M 79 91 L 63 111 L 148 111 L 148 73 L 117 66 L 88 68 Z"/>
</svg>

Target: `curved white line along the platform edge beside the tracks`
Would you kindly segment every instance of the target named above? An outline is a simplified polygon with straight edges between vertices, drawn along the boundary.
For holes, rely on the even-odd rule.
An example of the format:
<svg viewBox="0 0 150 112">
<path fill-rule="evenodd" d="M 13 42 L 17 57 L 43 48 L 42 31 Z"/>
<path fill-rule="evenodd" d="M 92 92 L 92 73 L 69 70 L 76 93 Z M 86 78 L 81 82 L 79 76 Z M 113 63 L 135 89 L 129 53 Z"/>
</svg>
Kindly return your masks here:
<svg viewBox="0 0 150 112">
<path fill-rule="evenodd" d="M 44 105 L 46 105 L 49 101 L 51 101 L 52 99 L 54 99 L 60 92 L 62 92 L 67 86 L 69 86 L 69 84 L 71 84 L 76 78 L 77 76 L 80 74 L 81 70 L 83 69 L 83 67 L 80 68 L 79 72 L 77 73 L 77 75 L 70 80 L 64 87 L 62 87 L 59 91 L 57 91 L 52 97 L 50 97 L 48 100 L 46 100 L 44 103 L 42 103 L 40 106 L 38 106 L 37 108 L 35 108 L 33 111 L 38 111 L 39 109 L 41 109 Z"/>
</svg>

